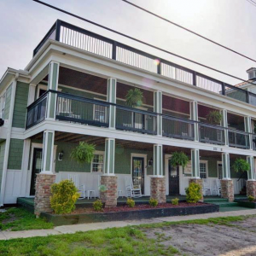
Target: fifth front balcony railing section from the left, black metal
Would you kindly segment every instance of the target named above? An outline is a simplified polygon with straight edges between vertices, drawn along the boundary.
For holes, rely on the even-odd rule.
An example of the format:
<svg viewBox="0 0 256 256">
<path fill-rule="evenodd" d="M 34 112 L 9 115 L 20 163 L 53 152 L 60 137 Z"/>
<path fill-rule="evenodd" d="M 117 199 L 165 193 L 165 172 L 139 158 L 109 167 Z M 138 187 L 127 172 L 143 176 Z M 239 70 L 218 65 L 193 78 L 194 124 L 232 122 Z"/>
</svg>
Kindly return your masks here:
<svg viewBox="0 0 256 256">
<path fill-rule="evenodd" d="M 250 148 L 249 133 L 229 129 L 229 145 L 235 148 Z"/>
</svg>

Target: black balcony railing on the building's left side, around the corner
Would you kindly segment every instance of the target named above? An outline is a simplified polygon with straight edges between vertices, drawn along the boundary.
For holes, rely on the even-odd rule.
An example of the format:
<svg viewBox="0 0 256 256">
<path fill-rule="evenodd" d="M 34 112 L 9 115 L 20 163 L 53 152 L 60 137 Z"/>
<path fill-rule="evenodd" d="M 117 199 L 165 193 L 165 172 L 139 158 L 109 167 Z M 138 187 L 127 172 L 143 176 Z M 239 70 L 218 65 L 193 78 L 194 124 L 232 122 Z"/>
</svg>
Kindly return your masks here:
<svg viewBox="0 0 256 256">
<path fill-rule="evenodd" d="M 34 125 L 44 121 L 46 115 L 46 102 L 48 91 L 38 98 L 37 101 L 32 102 L 27 107 L 26 111 L 26 129 L 31 128 Z"/>
</svg>

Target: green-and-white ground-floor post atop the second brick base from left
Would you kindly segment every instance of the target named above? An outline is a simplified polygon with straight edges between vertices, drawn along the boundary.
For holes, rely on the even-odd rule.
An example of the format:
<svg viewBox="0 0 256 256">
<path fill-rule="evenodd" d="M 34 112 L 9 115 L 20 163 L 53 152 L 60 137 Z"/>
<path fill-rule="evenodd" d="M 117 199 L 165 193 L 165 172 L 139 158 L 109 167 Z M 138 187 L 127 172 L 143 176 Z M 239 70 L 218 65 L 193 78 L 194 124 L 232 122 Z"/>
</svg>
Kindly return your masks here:
<svg viewBox="0 0 256 256">
<path fill-rule="evenodd" d="M 114 154 L 115 154 L 115 139 L 106 138 L 104 175 L 107 175 L 107 176 L 114 175 Z"/>
</svg>

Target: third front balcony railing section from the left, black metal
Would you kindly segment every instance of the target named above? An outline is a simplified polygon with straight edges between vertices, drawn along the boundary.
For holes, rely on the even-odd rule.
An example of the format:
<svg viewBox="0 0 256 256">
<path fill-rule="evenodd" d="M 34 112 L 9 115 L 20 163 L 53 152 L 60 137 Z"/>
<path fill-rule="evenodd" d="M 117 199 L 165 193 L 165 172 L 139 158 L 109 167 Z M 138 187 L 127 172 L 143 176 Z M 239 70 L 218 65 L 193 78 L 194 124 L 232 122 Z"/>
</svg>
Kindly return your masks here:
<svg viewBox="0 0 256 256">
<path fill-rule="evenodd" d="M 195 139 L 195 121 L 162 115 L 163 136 L 184 140 Z"/>
</svg>

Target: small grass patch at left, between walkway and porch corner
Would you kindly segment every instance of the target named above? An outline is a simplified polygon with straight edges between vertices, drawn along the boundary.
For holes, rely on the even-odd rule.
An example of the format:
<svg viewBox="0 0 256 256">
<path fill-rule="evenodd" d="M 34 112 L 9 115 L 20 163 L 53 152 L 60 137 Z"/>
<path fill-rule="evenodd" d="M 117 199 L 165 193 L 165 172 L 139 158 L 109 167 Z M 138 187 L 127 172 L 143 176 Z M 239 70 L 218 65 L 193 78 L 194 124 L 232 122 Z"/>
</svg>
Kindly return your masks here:
<svg viewBox="0 0 256 256">
<path fill-rule="evenodd" d="M 23 208 L 9 208 L 0 213 L 0 230 L 42 230 L 52 229 L 53 224 L 47 223 L 43 218 L 36 218 L 32 212 Z M 1 254 L 1 253 L 0 253 Z"/>
</svg>

